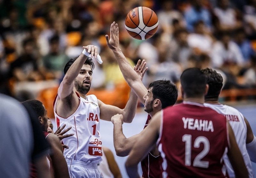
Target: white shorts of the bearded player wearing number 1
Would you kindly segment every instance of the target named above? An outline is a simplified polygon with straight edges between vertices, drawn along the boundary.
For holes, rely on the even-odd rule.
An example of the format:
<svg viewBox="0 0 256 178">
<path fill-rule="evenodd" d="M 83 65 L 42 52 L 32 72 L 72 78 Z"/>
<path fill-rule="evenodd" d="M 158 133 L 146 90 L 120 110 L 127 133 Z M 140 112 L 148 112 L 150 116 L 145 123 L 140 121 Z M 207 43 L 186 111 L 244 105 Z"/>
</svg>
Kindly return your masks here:
<svg viewBox="0 0 256 178">
<path fill-rule="evenodd" d="M 102 178 L 97 163 L 66 159 L 70 178 Z"/>
</svg>

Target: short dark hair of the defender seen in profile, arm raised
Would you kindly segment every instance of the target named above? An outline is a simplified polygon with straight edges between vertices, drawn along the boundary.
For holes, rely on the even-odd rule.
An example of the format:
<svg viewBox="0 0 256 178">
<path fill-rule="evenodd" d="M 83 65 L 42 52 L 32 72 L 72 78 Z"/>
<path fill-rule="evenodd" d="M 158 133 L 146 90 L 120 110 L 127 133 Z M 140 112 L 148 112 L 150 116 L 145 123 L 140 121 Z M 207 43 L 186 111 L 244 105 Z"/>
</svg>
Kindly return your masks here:
<svg viewBox="0 0 256 178">
<path fill-rule="evenodd" d="M 160 99 L 162 108 L 172 106 L 178 98 L 178 89 L 174 83 L 169 80 L 157 80 L 149 84 L 148 88 L 152 88 L 153 99 Z"/>
</svg>

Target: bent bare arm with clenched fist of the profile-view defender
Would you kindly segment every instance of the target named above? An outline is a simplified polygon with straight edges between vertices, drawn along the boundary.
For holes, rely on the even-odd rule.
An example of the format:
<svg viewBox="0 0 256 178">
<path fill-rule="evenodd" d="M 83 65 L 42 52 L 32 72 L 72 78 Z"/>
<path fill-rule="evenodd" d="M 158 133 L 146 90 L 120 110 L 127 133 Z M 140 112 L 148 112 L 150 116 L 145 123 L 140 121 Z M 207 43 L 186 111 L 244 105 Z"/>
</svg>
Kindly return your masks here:
<svg viewBox="0 0 256 178">
<path fill-rule="evenodd" d="M 122 128 L 123 116 L 116 114 L 111 118 L 111 121 L 114 124 L 113 137 L 116 155 L 121 157 L 127 156 L 132 150 L 132 146 L 136 143 L 141 133 L 145 131 L 147 127 L 142 130 L 140 134 L 126 138 Z"/>
</svg>

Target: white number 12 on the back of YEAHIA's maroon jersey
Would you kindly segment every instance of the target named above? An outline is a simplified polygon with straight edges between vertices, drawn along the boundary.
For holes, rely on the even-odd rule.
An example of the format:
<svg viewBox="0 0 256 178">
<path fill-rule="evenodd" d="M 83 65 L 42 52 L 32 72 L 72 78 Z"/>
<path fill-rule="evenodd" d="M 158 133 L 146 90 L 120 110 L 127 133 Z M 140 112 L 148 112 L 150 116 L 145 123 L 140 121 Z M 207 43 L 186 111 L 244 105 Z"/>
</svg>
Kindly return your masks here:
<svg viewBox="0 0 256 178">
<path fill-rule="evenodd" d="M 189 134 L 185 134 L 182 136 L 182 141 L 185 142 L 185 165 L 186 166 L 191 166 L 191 138 L 192 138 L 192 135 L 189 135 Z M 208 168 L 209 161 L 202 161 L 201 159 L 203 159 L 209 152 L 210 143 L 206 137 L 199 136 L 196 138 L 194 142 L 194 148 L 199 148 L 200 143 L 204 144 L 204 149 L 198 155 L 196 155 L 196 158 L 193 161 L 193 166 Z"/>
</svg>

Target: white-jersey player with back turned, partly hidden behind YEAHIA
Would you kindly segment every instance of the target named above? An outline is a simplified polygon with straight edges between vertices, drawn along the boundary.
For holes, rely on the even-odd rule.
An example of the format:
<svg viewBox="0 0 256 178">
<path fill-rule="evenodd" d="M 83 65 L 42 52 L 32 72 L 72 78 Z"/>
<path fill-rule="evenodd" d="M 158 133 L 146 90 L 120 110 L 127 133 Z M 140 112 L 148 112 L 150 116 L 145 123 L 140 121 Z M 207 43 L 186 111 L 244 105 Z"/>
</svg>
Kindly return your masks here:
<svg viewBox="0 0 256 178">
<path fill-rule="evenodd" d="M 244 158 L 244 163 L 247 167 L 249 177 L 253 178 L 251 160 L 255 161 L 256 139 L 252 133 L 252 129 L 241 112 L 231 106 L 220 104 L 218 102 L 219 94 L 222 88 L 221 75 L 209 68 L 203 69 L 202 71 L 206 75 L 207 83 L 209 85 L 209 91 L 205 96 L 204 105 L 224 115 L 229 121 L 229 124 L 236 137 L 236 143 Z M 224 155 L 223 160 L 229 177 L 235 177 L 235 173 L 229 162 L 228 156 Z"/>
</svg>

